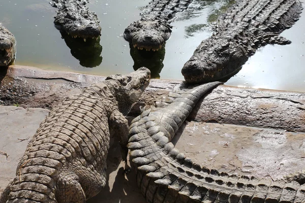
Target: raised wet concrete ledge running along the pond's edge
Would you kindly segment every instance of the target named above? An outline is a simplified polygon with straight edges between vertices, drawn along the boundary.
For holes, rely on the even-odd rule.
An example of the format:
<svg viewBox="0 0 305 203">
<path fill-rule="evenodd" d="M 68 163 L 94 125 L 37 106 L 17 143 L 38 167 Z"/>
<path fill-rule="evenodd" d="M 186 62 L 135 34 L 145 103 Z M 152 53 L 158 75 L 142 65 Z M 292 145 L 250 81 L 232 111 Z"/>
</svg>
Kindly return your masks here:
<svg viewBox="0 0 305 203">
<path fill-rule="evenodd" d="M 103 76 L 12 65 L 0 70 L 0 104 L 50 109 L 65 96 L 105 80 Z M 152 79 L 129 116 L 155 105 L 182 81 Z M 221 85 L 201 99 L 188 120 L 305 131 L 305 95 Z"/>
</svg>

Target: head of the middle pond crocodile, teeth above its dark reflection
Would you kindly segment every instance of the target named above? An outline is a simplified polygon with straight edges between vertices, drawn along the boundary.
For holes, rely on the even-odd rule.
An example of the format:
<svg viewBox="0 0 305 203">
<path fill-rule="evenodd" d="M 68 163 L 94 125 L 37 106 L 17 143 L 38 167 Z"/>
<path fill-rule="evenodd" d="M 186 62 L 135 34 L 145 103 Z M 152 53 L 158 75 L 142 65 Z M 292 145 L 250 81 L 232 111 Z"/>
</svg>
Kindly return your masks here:
<svg viewBox="0 0 305 203">
<path fill-rule="evenodd" d="M 138 49 L 158 51 L 170 37 L 171 26 L 158 17 L 135 21 L 124 31 L 124 38 Z"/>
</svg>

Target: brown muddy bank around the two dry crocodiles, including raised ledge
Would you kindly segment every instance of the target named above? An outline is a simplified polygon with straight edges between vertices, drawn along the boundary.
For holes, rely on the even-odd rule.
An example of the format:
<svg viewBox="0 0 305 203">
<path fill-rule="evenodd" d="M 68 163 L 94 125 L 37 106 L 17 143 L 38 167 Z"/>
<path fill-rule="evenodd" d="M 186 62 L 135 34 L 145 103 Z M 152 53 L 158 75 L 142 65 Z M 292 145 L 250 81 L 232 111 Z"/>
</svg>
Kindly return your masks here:
<svg viewBox="0 0 305 203">
<path fill-rule="evenodd" d="M 48 109 L 68 94 L 104 77 L 12 66 L 0 73 L 0 192 L 14 178 L 27 142 Z M 180 81 L 151 80 L 129 114 L 155 105 Z M 305 157 L 305 96 L 251 88 L 219 86 L 197 105 L 173 143 L 195 162 L 230 174 L 270 180 L 301 170 Z M 135 174 L 123 173 L 116 142 L 108 157 L 109 184 L 88 202 L 145 202 Z"/>
</svg>

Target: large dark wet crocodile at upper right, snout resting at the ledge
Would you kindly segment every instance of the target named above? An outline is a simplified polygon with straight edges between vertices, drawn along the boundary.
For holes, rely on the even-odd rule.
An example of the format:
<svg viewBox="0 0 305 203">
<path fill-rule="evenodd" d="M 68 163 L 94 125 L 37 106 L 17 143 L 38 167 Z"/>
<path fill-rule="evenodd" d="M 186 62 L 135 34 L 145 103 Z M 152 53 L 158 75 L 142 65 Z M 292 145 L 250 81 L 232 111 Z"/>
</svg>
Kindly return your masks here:
<svg viewBox="0 0 305 203">
<path fill-rule="evenodd" d="M 267 44 L 290 44 L 279 36 L 298 20 L 298 0 L 242 0 L 220 17 L 213 35 L 202 41 L 182 68 L 188 83 L 232 76 L 256 50 Z"/>
</svg>

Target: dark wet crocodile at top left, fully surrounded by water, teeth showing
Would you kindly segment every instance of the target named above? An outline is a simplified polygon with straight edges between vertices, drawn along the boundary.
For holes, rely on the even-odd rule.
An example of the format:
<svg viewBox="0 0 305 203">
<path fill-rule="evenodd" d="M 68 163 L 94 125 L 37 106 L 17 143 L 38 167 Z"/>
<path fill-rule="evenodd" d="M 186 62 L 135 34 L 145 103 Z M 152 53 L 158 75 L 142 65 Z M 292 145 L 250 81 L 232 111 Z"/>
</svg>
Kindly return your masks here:
<svg viewBox="0 0 305 203">
<path fill-rule="evenodd" d="M 88 10 L 87 4 L 88 0 L 53 0 L 51 5 L 58 8 L 55 27 L 84 41 L 101 36 L 98 16 Z"/>
</svg>

